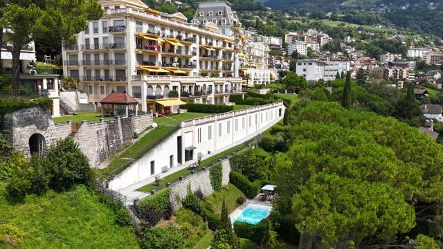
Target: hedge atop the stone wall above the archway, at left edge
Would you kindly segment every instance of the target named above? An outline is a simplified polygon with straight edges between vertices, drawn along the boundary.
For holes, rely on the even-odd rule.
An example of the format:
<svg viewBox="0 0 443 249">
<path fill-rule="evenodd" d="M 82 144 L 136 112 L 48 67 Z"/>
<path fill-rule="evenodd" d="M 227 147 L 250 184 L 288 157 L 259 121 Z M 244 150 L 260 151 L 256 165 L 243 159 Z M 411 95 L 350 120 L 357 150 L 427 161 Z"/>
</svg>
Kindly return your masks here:
<svg viewBox="0 0 443 249">
<path fill-rule="evenodd" d="M 49 109 L 52 106 L 53 100 L 46 97 L 33 100 L 0 99 L 0 117 L 3 117 L 6 113 L 13 113 L 25 108 L 42 107 L 42 109 Z"/>
</svg>

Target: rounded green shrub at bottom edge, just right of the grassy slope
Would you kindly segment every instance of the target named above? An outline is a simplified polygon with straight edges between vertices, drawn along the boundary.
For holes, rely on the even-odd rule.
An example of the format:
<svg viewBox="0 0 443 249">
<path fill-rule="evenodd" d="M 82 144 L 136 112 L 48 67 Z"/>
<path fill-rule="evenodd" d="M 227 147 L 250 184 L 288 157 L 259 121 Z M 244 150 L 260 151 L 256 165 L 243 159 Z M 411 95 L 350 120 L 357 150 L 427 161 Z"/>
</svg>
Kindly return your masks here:
<svg viewBox="0 0 443 249">
<path fill-rule="evenodd" d="M 183 240 L 183 230 L 174 225 L 150 228 L 143 233 L 140 240 L 143 249 L 187 249 Z"/>
</svg>

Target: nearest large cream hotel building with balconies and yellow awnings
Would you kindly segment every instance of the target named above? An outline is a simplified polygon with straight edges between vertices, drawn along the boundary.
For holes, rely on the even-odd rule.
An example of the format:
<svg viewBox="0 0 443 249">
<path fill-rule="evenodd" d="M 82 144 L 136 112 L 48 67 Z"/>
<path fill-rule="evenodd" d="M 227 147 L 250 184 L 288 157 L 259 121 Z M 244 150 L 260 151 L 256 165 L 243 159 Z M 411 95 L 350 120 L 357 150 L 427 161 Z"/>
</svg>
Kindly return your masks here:
<svg viewBox="0 0 443 249">
<path fill-rule="evenodd" d="M 181 13 L 163 14 L 139 0 L 99 2 L 105 16 L 89 21 L 62 53 L 64 76 L 79 78 L 80 91 L 96 107 L 111 91 L 127 91 L 139 111 L 176 112 L 183 102 L 227 104 L 230 93 L 242 91 L 239 76 L 257 68 L 240 70 L 249 56 L 242 53 L 244 35 L 223 35 L 212 22 L 188 24 Z M 272 80 L 270 73 L 260 77 L 255 82 Z"/>
</svg>

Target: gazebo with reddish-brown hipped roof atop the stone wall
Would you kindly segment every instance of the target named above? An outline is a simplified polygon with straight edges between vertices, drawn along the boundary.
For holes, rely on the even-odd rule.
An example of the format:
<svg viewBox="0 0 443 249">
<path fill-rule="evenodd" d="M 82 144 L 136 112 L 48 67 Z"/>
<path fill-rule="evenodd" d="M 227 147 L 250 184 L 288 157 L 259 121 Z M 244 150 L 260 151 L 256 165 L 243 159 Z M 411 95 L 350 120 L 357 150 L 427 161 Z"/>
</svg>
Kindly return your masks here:
<svg viewBox="0 0 443 249">
<path fill-rule="evenodd" d="M 129 116 L 129 113 L 137 115 L 138 101 L 125 91 L 123 93 L 115 93 L 112 91 L 112 93 L 100 101 L 100 104 L 102 104 L 102 116 L 105 116 L 105 112 L 111 112 L 114 116 L 120 116 L 123 113 L 125 117 Z"/>
</svg>

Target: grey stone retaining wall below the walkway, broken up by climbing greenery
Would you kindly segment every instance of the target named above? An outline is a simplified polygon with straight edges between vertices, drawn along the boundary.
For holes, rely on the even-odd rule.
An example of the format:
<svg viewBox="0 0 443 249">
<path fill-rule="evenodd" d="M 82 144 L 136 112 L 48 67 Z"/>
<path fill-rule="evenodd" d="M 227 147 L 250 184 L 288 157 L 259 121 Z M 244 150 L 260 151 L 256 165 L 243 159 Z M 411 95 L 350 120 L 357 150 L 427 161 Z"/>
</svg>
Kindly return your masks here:
<svg viewBox="0 0 443 249">
<path fill-rule="evenodd" d="M 188 194 L 188 185 L 191 186 L 192 192 L 200 189 L 205 196 L 213 194 L 214 189 L 213 186 L 210 185 L 209 169 L 210 167 L 196 174 L 186 176 L 185 178 L 183 178 L 183 180 L 172 183 L 172 185 L 170 185 L 170 201 L 174 206 L 174 210 L 177 210 L 181 207 L 181 203 L 177 203 L 177 200 L 181 200 L 186 197 L 186 194 Z M 223 172 L 221 185 L 225 186 L 229 183 L 230 165 L 228 159 L 221 160 L 221 171 Z M 179 198 L 177 198 L 177 196 Z"/>
</svg>

